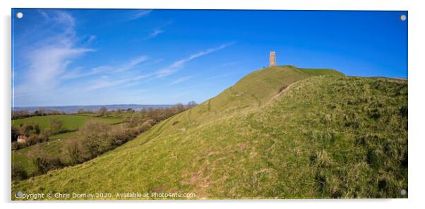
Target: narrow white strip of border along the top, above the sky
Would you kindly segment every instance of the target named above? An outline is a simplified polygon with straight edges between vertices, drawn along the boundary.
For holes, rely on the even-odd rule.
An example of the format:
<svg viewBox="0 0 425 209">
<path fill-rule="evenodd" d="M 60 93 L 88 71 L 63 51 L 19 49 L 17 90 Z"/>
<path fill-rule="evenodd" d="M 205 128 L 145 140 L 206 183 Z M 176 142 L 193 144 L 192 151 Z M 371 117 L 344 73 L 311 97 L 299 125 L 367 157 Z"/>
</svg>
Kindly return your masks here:
<svg viewBox="0 0 425 209">
<path fill-rule="evenodd" d="M 375 2 L 375 4 L 373 4 Z M 408 10 L 408 1 L 386 0 L 119 0 L 99 1 L 15 1 L 13 7 L 23 8 L 198 8 L 198 9 L 297 9 L 297 10 Z"/>
</svg>

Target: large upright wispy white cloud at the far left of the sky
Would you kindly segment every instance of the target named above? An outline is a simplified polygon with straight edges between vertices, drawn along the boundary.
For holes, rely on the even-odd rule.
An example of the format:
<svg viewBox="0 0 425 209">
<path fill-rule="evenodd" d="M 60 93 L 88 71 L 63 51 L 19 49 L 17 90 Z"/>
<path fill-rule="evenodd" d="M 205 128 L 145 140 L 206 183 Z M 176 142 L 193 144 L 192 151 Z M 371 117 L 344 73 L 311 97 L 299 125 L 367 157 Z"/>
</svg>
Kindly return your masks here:
<svg viewBox="0 0 425 209">
<path fill-rule="evenodd" d="M 54 33 L 49 31 L 46 37 L 34 44 L 26 53 L 28 67 L 23 81 L 16 86 L 15 94 L 32 94 L 56 88 L 60 76 L 66 73 L 68 64 L 94 49 L 76 47 L 75 20 L 65 11 L 40 11 L 46 23 L 53 25 Z M 59 30 L 57 32 L 56 30 Z"/>
</svg>

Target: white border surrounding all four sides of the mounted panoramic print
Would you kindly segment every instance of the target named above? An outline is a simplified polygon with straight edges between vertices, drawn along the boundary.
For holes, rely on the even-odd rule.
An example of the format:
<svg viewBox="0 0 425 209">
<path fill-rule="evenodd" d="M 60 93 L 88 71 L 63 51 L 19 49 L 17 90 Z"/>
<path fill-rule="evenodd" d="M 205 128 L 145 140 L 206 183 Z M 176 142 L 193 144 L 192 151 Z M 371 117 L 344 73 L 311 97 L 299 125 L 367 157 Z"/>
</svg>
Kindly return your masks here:
<svg viewBox="0 0 425 209">
<path fill-rule="evenodd" d="M 409 11 L 409 199 L 387 200 L 283 200 L 283 201 L 143 201 L 143 205 L 133 205 L 134 202 L 124 202 L 124 207 L 181 207 L 181 208 L 216 208 L 222 206 L 258 208 L 257 203 L 265 203 L 265 207 L 301 207 L 301 208 L 405 208 L 424 204 L 424 13 L 425 8 L 420 1 L 380 1 L 380 0 L 74 0 L 74 1 L 48 1 L 48 0 L 16 0 L 1 1 L 1 136 L 2 151 L 1 162 L 1 201 L 2 204 L 10 201 L 10 115 L 11 115 L 11 8 L 198 8 L 198 9 L 286 9 L 286 10 L 397 10 Z M 422 133 L 422 134 L 421 134 Z M 85 202 L 88 203 L 88 202 Z M 122 201 L 97 201 L 97 203 L 123 203 Z M 199 203 L 218 203 L 218 205 L 200 205 Z M 237 203 L 238 205 L 234 205 Z M 284 203 L 285 205 L 281 205 Z M 318 204 L 320 203 L 320 204 Z M 51 203 L 37 203 L 25 205 L 12 203 L 3 205 L 13 208 L 74 208 L 73 204 L 56 205 Z M 116 208 L 115 204 L 96 205 L 105 208 Z"/>
</svg>

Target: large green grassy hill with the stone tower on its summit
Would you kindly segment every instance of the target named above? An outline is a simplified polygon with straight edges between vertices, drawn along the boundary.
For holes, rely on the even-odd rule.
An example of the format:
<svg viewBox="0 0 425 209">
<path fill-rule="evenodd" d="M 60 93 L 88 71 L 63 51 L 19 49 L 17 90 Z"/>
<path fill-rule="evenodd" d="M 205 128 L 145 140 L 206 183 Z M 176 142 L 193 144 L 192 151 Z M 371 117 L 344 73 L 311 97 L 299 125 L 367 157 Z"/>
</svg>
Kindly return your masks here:
<svg viewBox="0 0 425 209">
<path fill-rule="evenodd" d="M 400 198 L 407 80 L 263 68 L 82 165 L 12 193 L 196 193 L 196 198 Z"/>
</svg>

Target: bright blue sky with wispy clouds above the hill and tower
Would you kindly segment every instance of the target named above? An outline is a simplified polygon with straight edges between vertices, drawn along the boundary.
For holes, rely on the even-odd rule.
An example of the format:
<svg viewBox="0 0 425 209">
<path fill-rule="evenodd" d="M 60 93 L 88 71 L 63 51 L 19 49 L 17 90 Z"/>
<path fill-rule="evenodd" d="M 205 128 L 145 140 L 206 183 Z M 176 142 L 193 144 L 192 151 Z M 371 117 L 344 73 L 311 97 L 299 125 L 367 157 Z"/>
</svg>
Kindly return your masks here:
<svg viewBox="0 0 425 209">
<path fill-rule="evenodd" d="M 12 13 L 15 107 L 200 103 L 268 66 L 270 50 L 278 65 L 407 78 L 405 11 Z"/>
</svg>

